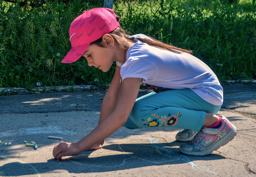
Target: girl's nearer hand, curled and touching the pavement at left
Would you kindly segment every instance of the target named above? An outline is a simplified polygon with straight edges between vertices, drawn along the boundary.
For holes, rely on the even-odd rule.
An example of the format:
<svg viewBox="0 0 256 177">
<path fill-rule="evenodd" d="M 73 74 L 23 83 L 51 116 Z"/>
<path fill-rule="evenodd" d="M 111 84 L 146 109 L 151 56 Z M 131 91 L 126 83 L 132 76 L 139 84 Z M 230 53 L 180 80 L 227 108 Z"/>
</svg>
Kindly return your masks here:
<svg viewBox="0 0 256 177">
<path fill-rule="evenodd" d="M 78 155 L 80 153 L 77 143 L 60 142 L 53 148 L 52 155 L 60 160 L 63 156 Z"/>
</svg>

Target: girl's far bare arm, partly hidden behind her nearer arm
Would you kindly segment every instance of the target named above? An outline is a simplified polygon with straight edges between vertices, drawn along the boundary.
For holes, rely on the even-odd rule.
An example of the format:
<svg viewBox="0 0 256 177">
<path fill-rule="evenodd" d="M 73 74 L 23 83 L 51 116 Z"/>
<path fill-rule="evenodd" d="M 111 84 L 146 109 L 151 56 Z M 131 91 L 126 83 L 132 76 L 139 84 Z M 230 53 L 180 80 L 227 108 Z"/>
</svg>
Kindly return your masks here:
<svg viewBox="0 0 256 177">
<path fill-rule="evenodd" d="M 100 124 L 102 120 L 104 120 L 111 112 L 113 112 L 114 107 L 116 106 L 116 101 L 121 92 L 121 86 L 122 86 L 122 83 L 120 83 L 120 69 L 121 68 L 118 65 L 116 65 L 116 71 L 115 71 L 114 77 L 111 81 L 108 91 L 106 92 L 102 100 L 100 120 L 98 124 Z M 90 147 L 87 150 L 100 149 L 102 148 L 103 144 L 104 144 L 104 140 L 102 140 L 97 144 L 94 144 L 92 147 Z"/>
</svg>

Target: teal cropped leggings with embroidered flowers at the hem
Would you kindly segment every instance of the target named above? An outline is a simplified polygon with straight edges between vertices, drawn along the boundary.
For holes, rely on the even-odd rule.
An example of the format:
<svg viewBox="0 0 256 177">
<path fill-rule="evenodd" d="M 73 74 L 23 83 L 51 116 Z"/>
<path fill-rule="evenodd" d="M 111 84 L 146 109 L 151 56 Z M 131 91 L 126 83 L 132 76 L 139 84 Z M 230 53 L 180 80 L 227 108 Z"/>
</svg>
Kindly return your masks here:
<svg viewBox="0 0 256 177">
<path fill-rule="evenodd" d="M 206 112 L 216 114 L 221 106 L 210 104 L 190 89 L 150 92 L 140 98 L 123 127 L 177 127 L 199 131 Z"/>
</svg>

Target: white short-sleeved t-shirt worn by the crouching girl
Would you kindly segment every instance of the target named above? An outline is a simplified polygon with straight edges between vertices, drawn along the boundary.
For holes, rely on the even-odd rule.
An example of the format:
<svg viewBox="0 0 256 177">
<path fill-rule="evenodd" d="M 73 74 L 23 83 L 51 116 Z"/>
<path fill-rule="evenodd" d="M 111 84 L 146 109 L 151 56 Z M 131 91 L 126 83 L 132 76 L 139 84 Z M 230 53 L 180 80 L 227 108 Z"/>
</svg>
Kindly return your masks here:
<svg viewBox="0 0 256 177">
<path fill-rule="evenodd" d="M 131 36 L 137 41 L 146 35 Z M 142 78 L 142 83 L 163 88 L 193 90 L 207 102 L 220 106 L 223 88 L 217 76 L 203 61 L 188 53 L 174 53 L 137 41 L 126 54 L 121 67 L 122 80 L 128 77 Z"/>
</svg>

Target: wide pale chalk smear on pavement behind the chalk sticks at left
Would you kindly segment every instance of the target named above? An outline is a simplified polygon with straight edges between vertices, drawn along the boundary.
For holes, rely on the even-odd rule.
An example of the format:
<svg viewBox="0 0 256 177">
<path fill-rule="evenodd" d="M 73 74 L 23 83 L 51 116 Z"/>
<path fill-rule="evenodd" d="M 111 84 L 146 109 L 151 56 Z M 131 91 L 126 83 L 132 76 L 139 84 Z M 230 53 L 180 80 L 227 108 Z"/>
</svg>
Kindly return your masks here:
<svg viewBox="0 0 256 177">
<path fill-rule="evenodd" d="M 47 127 L 36 128 L 21 128 L 19 130 L 10 130 L 0 133 L 0 138 L 8 136 L 22 136 L 32 134 L 63 134 L 63 135 L 75 135 L 75 131 L 62 130 L 60 126 L 49 125 Z"/>
</svg>

